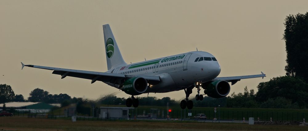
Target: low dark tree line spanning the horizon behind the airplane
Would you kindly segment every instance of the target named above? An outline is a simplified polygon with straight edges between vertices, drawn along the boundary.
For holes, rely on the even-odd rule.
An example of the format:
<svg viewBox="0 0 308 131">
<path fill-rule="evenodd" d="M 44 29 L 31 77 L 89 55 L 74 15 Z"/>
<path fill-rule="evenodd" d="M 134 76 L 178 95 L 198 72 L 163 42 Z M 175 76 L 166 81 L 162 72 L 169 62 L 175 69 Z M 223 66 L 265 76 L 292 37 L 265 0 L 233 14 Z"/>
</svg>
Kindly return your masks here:
<svg viewBox="0 0 308 131">
<path fill-rule="evenodd" d="M 3 94 L 3 88 L 10 89 L 9 85 L 0 84 L 0 94 Z M 205 96 L 203 101 L 196 101 L 192 95 L 190 98 L 194 101 L 196 107 L 221 107 L 230 108 L 293 108 L 293 109 L 306 109 L 308 108 L 308 84 L 299 78 L 292 76 L 281 76 L 270 79 L 268 82 L 259 83 L 257 86 L 258 91 L 255 93 L 253 89 L 248 90 L 244 88 L 244 92 L 235 94 L 234 92 L 225 98 L 211 98 Z M 27 100 L 20 100 L 14 98 L 14 91 L 7 91 L 10 96 L 7 102 L 20 101 L 20 102 L 45 102 L 45 103 L 61 103 L 62 106 L 67 106 L 71 103 L 76 103 L 80 111 L 86 108 L 85 105 L 99 104 L 99 105 L 125 105 L 126 98 L 117 97 L 109 94 L 98 98 L 97 100 L 89 100 L 86 98 L 76 98 L 68 94 L 49 94 L 48 91 L 36 88 L 30 92 Z M 22 95 L 21 95 L 22 96 Z M 3 98 L 3 95 L 1 95 Z M 23 96 L 22 96 L 23 98 Z M 153 96 L 138 97 L 140 105 L 143 106 L 178 106 L 180 100 L 171 99 L 170 97 L 156 98 Z M 3 101 L 1 101 L 3 103 Z"/>
</svg>

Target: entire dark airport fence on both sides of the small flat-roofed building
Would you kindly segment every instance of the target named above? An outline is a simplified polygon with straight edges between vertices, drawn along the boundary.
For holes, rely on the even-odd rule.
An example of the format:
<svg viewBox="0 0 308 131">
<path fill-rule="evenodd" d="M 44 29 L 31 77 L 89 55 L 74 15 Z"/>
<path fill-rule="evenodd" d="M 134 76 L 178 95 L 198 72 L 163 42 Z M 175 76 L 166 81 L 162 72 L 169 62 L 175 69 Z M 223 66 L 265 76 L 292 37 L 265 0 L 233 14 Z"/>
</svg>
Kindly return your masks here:
<svg viewBox="0 0 308 131">
<path fill-rule="evenodd" d="M 59 112 L 49 112 L 49 113 L 30 113 L 30 112 L 19 112 L 12 111 L 13 116 L 23 116 L 28 118 L 49 118 L 49 119 L 57 119 L 57 118 L 66 118 L 71 119 L 70 116 L 64 115 Z M 188 113 L 191 113 L 189 116 Z M 216 113 L 213 110 L 172 110 L 167 113 L 167 110 L 139 110 L 137 108 L 130 110 L 130 118 L 142 118 L 142 119 L 165 119 L 165 118 L 173 118 L 173 119 L 193 119 L 197 114 L 205 114 L 208 120 L 213 120 L 216 118 L 217 120 L 238 120 L 242 121 L 245 117 L 247 121 L 250 117 L 254 118 L 255 121 L 298 121 L 302 122 L 304 118 L 308 118 L 308 112 L 273 112 L 273 111 L 219 111 Z M 259 118 L 259 119 L 258 119 Z M 109 121 L 119 119 L 119 118 L 108 118 Z M 122 118 L 127 119 L 127 118 Z M 76 120 L 105 120 L 102 118 L 96 118 L 93 116 L 77 116 Z"/>
</svg>

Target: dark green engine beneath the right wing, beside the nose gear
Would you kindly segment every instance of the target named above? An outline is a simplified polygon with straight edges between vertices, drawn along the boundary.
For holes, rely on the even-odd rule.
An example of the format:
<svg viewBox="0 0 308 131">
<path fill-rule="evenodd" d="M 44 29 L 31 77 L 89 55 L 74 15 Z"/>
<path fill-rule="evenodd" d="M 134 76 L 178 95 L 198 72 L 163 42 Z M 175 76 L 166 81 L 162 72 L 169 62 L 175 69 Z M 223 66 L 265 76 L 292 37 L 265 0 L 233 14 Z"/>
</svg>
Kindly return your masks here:
<svg viewBox="0 0 308 131">
<path fill-rule="evenodd" d="M 203 83 L 204 93 L 209 97 L 223 98 L 230 92 L 230 85 L 225 80 L 217 80 L 209 83 Z"/>
</svg>

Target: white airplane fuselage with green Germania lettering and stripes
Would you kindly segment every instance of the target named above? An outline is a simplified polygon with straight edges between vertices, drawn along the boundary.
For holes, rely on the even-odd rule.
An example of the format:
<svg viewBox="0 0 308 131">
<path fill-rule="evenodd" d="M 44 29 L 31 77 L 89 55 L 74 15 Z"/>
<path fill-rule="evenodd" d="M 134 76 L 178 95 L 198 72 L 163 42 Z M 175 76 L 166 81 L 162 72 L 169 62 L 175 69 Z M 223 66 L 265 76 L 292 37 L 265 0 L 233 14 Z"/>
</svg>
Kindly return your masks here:
<svg viewBox="0 0 308 131">
<path fill-rule="evenodd" d="M 200 60 L 201 57 L 203 57 L 202 60 Z M 199 60 L 195 62 L 196 58 L 199 58 Z M 195 51 L 122 65 L 107 72 L 124 75 L 160 76 L 161 82 L 156 85 L 149 85 L 148 90 L 144 93 L 163 93 L 179 91 L 192 86 L 196 82 L 204 83 L 213 80 L 221 71 L 218 61 L 215 60 L 214 56 L 208 52 Z M 107 84 L 110 85 L 110 83 Z M 115 85 L 111 86 L 116 87 Z"/>
</svg>

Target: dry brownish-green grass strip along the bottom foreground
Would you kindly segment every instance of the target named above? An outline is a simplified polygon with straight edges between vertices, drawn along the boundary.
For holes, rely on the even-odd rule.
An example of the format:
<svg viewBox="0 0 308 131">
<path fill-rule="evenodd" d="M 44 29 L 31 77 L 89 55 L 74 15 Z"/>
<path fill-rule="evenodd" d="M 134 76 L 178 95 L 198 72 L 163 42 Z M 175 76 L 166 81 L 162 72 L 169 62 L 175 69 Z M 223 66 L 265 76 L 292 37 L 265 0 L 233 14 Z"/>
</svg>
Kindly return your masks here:
<svg viewBox="0 0 308 131">
<path fill-rule="evenodd" d="M 230 131 L 264 130 L 289 131 L 308 130 L 298 125 L 248 125 L 244 123 L 204 123 L 196 121 L 76 121 L 64 119 L 40 119 L 25 117 L 0 117 L 0 130 L 18 131 Z"/>
</svg>

